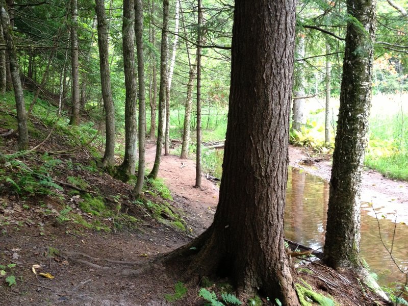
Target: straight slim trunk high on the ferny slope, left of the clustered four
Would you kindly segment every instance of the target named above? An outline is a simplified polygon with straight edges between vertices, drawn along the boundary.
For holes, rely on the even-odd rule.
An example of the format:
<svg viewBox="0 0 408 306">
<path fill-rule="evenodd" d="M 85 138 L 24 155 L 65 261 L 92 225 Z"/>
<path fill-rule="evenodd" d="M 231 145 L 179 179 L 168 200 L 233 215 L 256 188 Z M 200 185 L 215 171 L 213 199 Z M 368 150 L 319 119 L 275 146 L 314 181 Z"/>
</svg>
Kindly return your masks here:
<svg viewBox="0 0 408 306">
<path fill-rule="evenodd" d="M 78 60 L 78 1 L 71 0 L 71 80 L 72 80 L 72 109 L 69 124 L 80 123 L 80 83 Z"/>
</svg>

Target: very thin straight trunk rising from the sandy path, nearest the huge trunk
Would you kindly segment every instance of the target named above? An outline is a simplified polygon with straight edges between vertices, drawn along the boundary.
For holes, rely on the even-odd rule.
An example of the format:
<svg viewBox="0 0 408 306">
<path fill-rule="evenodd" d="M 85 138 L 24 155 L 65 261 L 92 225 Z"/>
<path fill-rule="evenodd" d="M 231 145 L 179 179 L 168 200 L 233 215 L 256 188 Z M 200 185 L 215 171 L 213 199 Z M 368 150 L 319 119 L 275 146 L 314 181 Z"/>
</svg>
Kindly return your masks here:
<svg viewBox="0 0 408 306">
<path fill-rule="evenodd" d="M 201 44 L 202 44 L 202 7 L 198 0 L 198 31 L 197 31 L 197 142 L 195 186 L 201 187 Z"/>
</svg>

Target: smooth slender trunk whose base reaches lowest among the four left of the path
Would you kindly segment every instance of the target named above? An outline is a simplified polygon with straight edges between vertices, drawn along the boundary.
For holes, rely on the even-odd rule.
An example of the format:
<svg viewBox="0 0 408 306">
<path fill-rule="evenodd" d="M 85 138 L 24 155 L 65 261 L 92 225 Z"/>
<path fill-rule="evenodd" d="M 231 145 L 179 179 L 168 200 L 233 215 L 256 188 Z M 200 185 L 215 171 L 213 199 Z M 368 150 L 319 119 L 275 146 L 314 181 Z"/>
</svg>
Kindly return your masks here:
<svg viewBox="0 0 408 306">
<path fill-rule="evenodd" d="M 135 2 L 135 33 L 137 46 L 137 69 L 139 80 L 139 164 L 136 186 L 133 194 L 138 197 L 142 192 L 145 170 L 145 150 L 144 150 L 144 124 L 146 121 L 145 86 L 144 86 L 144 60 L 143 60 L 143 1 Z"/>
</svg>

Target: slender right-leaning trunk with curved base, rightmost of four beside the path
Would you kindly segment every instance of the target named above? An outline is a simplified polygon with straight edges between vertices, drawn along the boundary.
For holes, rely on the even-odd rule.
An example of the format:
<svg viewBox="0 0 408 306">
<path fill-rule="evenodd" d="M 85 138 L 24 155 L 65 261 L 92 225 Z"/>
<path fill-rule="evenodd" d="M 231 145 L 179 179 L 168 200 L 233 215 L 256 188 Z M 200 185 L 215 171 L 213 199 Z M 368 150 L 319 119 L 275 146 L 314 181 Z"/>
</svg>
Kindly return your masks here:
<svg viewBox="0 0 408 306">
<path fill-rule="evenodd" d="M 163 120 L 164 111 L 166 107 L 166 84 L 167 84 L 167 33 L 169 24 L 169 1 L 163 0 L 163 26 L 162 26 L 162 44 L 160 51 L 160 90 L 159 90 L 159 124 L 157 131 L 157 146 L 156 146 L 156 157 L 153 169 L 151 169 L 148 175 L 151 179 L 156 179 L 159 173 L 160 161 L 162 158 L 162 144 L 164 140 L 163 134 Z"/>
</svg>

